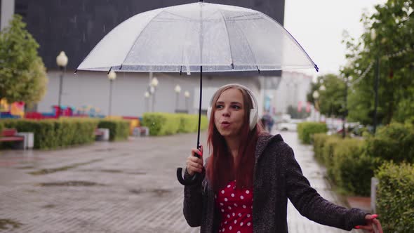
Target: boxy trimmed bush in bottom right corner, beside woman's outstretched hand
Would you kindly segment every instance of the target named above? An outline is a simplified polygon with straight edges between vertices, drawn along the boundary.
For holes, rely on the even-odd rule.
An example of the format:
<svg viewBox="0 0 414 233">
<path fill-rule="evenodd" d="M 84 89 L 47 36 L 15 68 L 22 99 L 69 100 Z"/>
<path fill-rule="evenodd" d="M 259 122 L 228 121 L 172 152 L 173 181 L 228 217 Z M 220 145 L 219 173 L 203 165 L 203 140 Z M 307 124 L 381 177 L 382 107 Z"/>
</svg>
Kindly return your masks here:
<svg viewBox="0 0 414 233">
<path fill-rule="evenodd" d="M 414 166 L 387 162 L 375 177 L 380 180 L 377 191 L 378 213 L 384 232 L 413 232 Z"/>
</svg>

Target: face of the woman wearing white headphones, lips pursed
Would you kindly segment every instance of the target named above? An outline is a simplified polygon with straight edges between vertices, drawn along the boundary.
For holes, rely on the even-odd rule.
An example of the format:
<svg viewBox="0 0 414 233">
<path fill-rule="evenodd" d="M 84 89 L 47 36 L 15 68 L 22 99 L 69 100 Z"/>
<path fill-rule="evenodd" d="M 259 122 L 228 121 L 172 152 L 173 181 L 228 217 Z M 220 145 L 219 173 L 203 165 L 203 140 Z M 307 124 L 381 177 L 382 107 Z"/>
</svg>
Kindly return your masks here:
<svg viewBox="0 0 414 233">
<path fill-rule="evenodd" d="M 223 137 L 239 136 L 244 119 L 243 95 L 236 88 L 221 93 L 215 102 L 214 124 Z"/>
</svg>

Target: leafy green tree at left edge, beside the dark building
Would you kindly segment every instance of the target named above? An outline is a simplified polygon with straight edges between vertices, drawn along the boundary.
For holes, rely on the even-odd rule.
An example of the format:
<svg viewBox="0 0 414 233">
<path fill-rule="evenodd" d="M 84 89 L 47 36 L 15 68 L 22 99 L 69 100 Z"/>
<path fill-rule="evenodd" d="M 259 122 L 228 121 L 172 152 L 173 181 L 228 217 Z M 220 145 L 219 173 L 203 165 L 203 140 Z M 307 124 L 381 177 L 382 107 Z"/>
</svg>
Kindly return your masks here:
<svg viewBox="0 0 414 233">
<path fill-rule="evenodd" d="M 20 15 L 0 32 L 0 99 L 39 102 L 46 93 L 46 68 L 37 54 L 39 44 L 25 29 Z"/>
</svg>

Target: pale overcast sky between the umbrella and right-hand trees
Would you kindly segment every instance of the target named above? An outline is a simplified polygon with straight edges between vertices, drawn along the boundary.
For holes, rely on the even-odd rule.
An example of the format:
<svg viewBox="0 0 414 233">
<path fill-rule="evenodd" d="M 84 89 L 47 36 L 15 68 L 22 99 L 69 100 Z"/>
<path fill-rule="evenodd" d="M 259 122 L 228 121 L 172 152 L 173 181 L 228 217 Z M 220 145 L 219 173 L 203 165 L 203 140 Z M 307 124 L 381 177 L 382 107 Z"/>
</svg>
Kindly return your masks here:
<svg viewBox="0 0 414 233">
<path fill-rule="evenodd" d="M 345 45 L 341 44 L 342 32 L 357 38 L 363 33 L 359 22 L 364 11 L 373 13 L 376 4 L 386 0 L 286 0 L 284 27 L 319 67 L 300 72 L 319 76 L 337 73 L 345 65 Z"/>
</svg>

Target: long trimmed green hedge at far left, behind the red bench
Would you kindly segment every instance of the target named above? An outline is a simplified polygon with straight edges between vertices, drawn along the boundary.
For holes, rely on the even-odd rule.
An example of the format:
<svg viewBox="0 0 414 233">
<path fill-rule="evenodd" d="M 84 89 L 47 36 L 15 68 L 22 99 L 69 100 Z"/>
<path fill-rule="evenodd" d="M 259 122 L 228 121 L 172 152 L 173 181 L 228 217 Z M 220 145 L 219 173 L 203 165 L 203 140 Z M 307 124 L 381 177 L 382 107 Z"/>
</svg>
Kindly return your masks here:
<svg viewBox="0 0 414 233">
<path fill-rule="evenodd" d="M 47 119 L 2 120 L 5 128 L 16 128 L 18 132 L 34 133 L 35 149 L 55 149 L 70 145 L 88 144 L 95 141 L 95 128 L 98 121 L 95 119 Z"/>
</svg>

